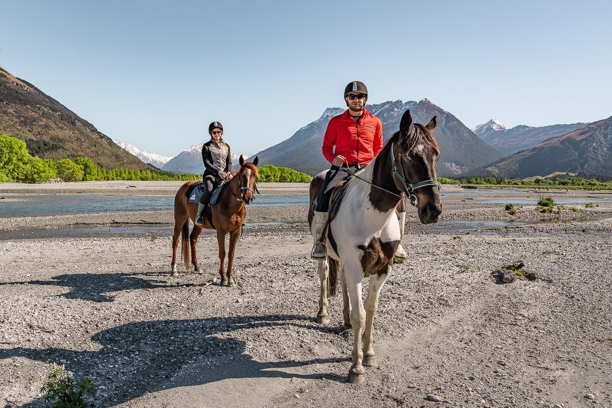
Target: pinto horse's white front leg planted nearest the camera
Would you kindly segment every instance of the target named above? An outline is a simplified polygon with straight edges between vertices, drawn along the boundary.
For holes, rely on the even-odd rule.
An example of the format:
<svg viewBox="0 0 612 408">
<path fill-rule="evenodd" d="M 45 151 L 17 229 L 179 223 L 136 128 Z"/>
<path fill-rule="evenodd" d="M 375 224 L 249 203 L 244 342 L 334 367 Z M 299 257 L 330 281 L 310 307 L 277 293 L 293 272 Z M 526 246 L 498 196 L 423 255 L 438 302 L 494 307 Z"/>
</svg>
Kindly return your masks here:
<svg viewBox="0 0 612 408">
<path fill-rule="evenodd" d="M 348 372 L 348 382 L 365 383 L 365 369 L 362 365 L 364 352 L 361 349 L 361 329 L 365 323 L 365 310 L 361 301 L 361 281 L 364 278 L 361 265 L 351 262 L 344 269 L 346 290 L 351 303 L 351 325 L 353 326 L 353 365 Z"/>
</svg>

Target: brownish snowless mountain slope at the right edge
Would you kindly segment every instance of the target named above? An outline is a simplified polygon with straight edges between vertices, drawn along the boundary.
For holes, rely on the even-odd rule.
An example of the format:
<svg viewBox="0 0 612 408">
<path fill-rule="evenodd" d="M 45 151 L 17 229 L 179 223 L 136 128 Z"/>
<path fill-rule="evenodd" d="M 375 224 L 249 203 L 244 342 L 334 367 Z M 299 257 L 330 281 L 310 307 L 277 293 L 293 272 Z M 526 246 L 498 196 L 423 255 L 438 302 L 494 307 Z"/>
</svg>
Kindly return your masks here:
<svg viewBox="0 0 612 408">
<path fill-rule="evenodd" d="M 612 116 L 549 138 L 465 176 L 525 177 L 553 172 L 612 175 Z"/>
</svg>

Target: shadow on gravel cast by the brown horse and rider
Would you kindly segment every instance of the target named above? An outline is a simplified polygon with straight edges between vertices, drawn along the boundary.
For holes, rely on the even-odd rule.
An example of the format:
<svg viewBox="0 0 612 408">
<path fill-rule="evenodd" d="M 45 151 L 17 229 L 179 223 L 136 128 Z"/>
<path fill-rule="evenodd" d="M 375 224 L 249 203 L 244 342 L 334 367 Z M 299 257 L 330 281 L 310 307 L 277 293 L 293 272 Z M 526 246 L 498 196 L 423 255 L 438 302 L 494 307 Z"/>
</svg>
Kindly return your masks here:
<svg viewBox="0 0 612 408">
<path fill-rule="evenodd" d="M 140 274 L 142 275 L 142 274 Z M 157 273 L 156 275 L 163 276 Z M 167 274 L 166 274 L 167 276 Z M 4 284 L 34 284 L 68 287 L 69 292 L 57 295 L 66 299 L 82 299 L 91 302 L 113 302 L 113 292 L 132 289 L 158 289 L 162 287 L 197 286 L 196 284 L 168 284 L 165 280 L 138 278 L 130 273 L 67 273 L 53 276 L 48 281 L 3 282 Z"/>
</svg>

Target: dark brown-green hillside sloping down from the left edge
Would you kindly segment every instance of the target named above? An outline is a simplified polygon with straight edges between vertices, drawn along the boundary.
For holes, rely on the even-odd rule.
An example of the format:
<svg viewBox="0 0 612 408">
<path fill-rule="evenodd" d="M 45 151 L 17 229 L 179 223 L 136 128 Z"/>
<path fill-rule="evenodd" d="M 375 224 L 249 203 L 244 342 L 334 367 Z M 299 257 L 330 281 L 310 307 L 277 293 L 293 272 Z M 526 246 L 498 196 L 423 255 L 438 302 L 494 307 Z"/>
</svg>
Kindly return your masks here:
<svg viewBox="0 0 612 408">
<path fill-rule="evenodd" d="M 153 169 L 31 83 L 0 67 L 0 134 L 21 139 L 31 155 L 89 157 L 108 169 Z"/>
</svg>

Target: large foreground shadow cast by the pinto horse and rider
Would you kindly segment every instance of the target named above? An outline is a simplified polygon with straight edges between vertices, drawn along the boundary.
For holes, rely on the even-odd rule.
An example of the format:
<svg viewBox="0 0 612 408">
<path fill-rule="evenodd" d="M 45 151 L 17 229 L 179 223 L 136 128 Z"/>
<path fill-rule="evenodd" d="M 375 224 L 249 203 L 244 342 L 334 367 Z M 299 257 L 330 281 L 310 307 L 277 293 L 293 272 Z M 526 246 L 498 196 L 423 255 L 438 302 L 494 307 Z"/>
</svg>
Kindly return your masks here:
<svg viewBox="0 0 612 408">
<path fill-rule="evenodd" d="M 135 322 L 92 336 L 92 342 L 100 345 L 98 351 L 15 347 L 0 350 L 0 360 L 24 357 L 65 364 L 77 379 L 91 377 L 98 390 L 95 404 L 99 407 L 114 406 L 149 392 L 232 378 L 326 377 L 344 381 L 344 377 L 333 373 L 304 376 L 282 369 L 346 362 L 345 357 L 258 362 L 245 353 L 244 341 L 226 337 L 226 333 L 235 330 L 289 325 L 329 332 L 329 328 L 310 322 L 306 316 L 285 314 Z M 262 335 L 266 333 L 261 330 L 253 333 L 255 338 Z M 37 399 L 24 406 L 46 407 L 48 403 Z"/>
</svg>

